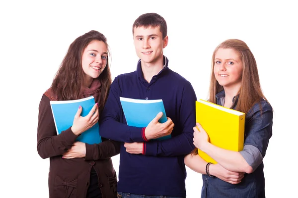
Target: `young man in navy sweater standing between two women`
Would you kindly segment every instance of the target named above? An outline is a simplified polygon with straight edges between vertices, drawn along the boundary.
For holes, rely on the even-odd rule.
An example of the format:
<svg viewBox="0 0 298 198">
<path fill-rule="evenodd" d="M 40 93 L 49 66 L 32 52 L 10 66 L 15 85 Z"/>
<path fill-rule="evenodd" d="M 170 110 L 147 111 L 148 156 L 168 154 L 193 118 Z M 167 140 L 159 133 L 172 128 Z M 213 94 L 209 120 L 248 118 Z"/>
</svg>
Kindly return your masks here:
<svg viewBox="0 0 298 198">
<path fill-rule="evenodd" d="M 133 36 L 140 58 L 137 70 L 115 78 L 100 115 L 100 135 L 122 142 L 118 197 L 184 198 L 184 155 L 195 148 L 196 95 L 186 79 L 168 68 L 168 59 L 163 56 L 168 44 L 163 17 L 141 15 L 133 25 Z M 162 99 L 168 120 L 158 123 L 162 115 L 158 114 L 146 128 L 128 126 L 119 97 Z M 151 140 L 169 134 L 170 139 Z"/>
</svg>

